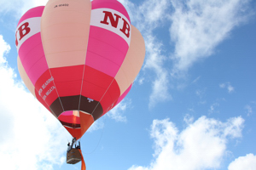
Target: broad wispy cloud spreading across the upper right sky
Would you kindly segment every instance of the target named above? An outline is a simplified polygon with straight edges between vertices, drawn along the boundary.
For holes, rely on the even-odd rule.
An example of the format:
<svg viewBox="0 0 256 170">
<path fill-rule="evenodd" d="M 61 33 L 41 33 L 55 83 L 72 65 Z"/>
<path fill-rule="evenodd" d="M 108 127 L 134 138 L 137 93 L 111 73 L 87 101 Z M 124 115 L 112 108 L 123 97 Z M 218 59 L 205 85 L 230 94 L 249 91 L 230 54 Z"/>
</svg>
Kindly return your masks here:
<svg viewBox="0 0 256 170">
<path fill-rule="evenodd" d="M 155 73 L 149 76 L 154 78 L 149 106 L 172 99 L 172 78 L 183 76 L 195 62 L 214 54 L 218 44 L 251 14 L 246 10 L 247 0 L 187 0 L 184 3 L 148 0 L 138 7 L 129 1 L 121 2 L 128 8 L 133 24 L 142 31 L 146 42 L 143 71 Z M 166 34 L 170 43 L 163 43 L 154 36 L 154 31 L 163 31 L 167 26 L 170 26 L 169 35 Z M 168 52 L 172 53 L 170 59 L 165 49 L 172 49 L 172 46 L 174 51 Z M 234 91 L 231 86 L 228 89 L 230 93 Z"/>
</svg>

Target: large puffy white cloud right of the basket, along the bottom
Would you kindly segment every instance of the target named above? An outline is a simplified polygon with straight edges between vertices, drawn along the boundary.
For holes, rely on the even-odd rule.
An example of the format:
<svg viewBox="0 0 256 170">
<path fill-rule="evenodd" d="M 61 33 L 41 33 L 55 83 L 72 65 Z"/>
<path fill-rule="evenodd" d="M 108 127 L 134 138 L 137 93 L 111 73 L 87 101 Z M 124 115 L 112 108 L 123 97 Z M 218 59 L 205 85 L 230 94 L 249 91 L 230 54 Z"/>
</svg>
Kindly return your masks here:
<svg viewBox="0 0 256 170">
<path fill-rule="evenodd" d="M 186 120 L 186 119 L 185 119 Z M 147 167 L 133 165 L 129 170 L 208 169 L 218 168 L 228 152 L 229 139 L 240 138 L 244 120 L 230 118 L 227 122 L 201 116 L 195 122 L 189 118 L 187 127 L 178 132 L 169 121 L 154 120 L 154 160 Z"/>
</svg>

